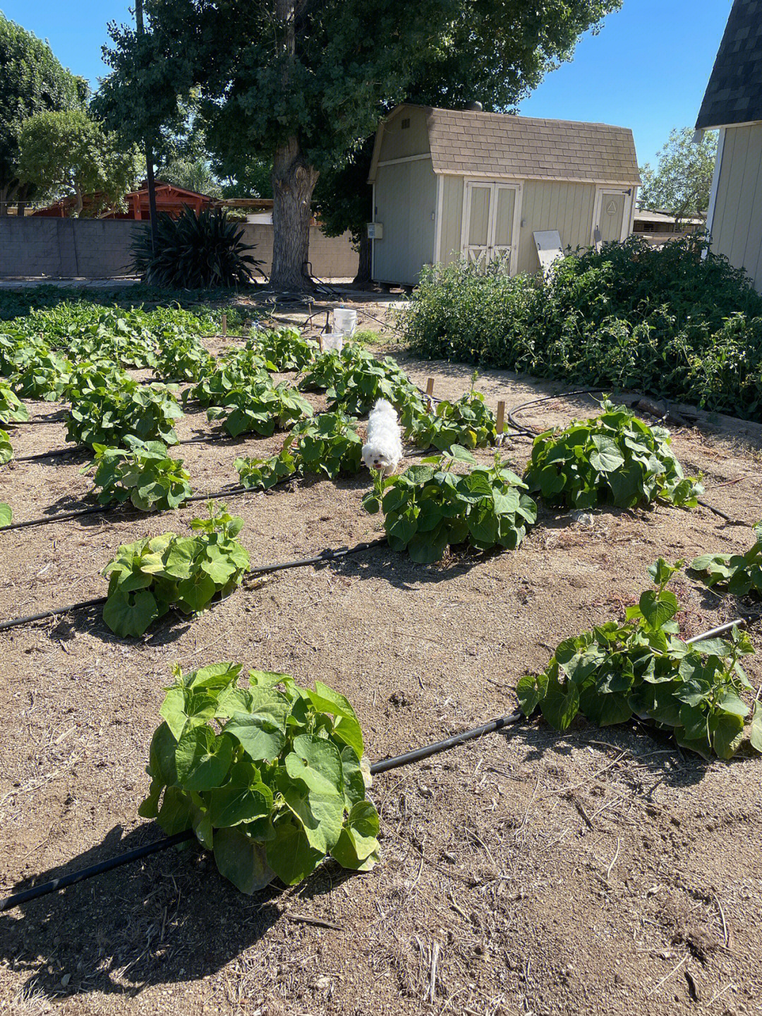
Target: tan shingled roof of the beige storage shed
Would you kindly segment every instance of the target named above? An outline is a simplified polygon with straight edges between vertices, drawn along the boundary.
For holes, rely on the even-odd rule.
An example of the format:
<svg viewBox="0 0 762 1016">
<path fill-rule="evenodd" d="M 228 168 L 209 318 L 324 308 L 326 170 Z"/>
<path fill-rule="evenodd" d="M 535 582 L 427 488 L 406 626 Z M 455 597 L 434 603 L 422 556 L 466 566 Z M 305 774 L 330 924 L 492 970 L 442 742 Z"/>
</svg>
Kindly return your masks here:
<svg viewBox="0 0 762 1016">
<path fill-rule="evenodd" d="M 398 106 L 387 123 L 409 106 Z M 507 113 L 424 107 L 434 173 L 633 186 L 640 183 L 627 127 Z M 370 180 L 380 157 L 376 135 Z"/>
</svg>

